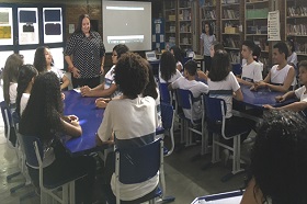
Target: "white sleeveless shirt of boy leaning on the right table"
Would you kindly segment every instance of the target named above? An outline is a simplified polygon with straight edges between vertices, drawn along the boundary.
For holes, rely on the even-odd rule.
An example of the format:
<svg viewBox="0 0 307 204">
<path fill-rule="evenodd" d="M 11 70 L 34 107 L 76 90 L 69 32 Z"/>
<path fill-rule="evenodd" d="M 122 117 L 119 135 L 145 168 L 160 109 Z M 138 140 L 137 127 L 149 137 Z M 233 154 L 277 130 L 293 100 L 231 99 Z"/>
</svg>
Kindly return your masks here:
<svg viewBox="0 0 307 204">
<path fill-rule="evenodd" d="M 272 69 L 270 70 L 271 72 L 271 83 L 280 83 L 280 84 L 284 84 L 288 70 L 292 66 L 286 65 L 284 68 L 277 70 L 278 65 L 274 65 L 272 67 Z M 291 83 L 291 86 L 295 86 L 296 84 L 296 79 L 295 76 L 293 78 L 293 82 Z"/>
</svg>

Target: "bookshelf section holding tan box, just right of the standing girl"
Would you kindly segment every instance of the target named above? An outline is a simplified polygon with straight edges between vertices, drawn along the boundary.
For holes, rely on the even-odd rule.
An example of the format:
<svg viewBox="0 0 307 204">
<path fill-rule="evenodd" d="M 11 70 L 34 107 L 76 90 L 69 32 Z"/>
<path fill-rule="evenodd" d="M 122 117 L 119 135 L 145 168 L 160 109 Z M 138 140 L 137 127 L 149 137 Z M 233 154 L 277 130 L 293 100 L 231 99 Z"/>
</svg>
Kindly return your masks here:
<svg viewBox="0 0 307 204">
<path fill-rule="evenodd" d="M 240 0 L 220 1 L 220 41 L 229 53 L 232 64 L 240 64 L 240 44 L 242 32 L 240 15 Z"/>
</svg>

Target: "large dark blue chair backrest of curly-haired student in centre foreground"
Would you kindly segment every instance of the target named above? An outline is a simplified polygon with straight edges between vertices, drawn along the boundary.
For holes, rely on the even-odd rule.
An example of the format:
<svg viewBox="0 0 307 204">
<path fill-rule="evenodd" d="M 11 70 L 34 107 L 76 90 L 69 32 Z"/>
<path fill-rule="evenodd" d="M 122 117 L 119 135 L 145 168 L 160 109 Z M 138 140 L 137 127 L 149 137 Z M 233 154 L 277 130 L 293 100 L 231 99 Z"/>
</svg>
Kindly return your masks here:
<svg viewBox="0 0 307 204">
<path fill-rule="evenodd" d="M 163 160 L 163 141 L 157 139 L 136 148 L 118 148 L 115 150 L 115 173 L 124 184 L 140 183 L 154 178 Z"/>
</svg>

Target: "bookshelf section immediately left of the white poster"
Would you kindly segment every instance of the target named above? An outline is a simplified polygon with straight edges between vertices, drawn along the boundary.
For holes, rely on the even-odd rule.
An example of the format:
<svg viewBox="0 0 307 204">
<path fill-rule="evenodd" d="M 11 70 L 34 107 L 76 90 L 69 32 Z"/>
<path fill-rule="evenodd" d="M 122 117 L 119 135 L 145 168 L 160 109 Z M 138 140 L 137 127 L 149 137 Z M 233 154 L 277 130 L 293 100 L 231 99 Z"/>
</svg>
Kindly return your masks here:
<svg viewBox="0 0 307 204">
<path fill-rule="evenodd" d="M 269 0 L 246 0 L 245 37 L 261 48 L 260 61 L 269 67 L 268 13 Z"/>
</svg>

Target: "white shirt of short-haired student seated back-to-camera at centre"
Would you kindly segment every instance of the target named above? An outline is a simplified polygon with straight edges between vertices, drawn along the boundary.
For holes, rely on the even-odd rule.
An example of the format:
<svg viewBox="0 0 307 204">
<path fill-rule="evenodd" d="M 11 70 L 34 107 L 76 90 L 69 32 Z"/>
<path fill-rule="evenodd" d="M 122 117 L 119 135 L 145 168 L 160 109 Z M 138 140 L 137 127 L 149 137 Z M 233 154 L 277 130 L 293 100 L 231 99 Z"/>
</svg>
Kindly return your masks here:
<svg viewBox="0 0 307 204">
<path fill-rule="evenodd" d="M 184 89 L 190 90 L 194 98 L 198 98 L 202 93 L 208 93 L 209 88 L 207 84 L 201 81 L 189 81 L 186 78 L 181 77 L 174 82 L 171 83 L 173 89 Z M 201 103 L 202 100 L 195 101 L 192 104 L 192 114 L 193 121 L 202 118 L 203 115 L 203 105 Z M 184 116 L 191 120 L 191 112 L 189 110 L 183 109 Z"/>
</svg>

